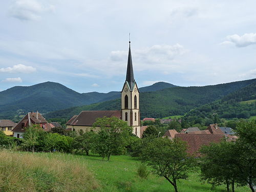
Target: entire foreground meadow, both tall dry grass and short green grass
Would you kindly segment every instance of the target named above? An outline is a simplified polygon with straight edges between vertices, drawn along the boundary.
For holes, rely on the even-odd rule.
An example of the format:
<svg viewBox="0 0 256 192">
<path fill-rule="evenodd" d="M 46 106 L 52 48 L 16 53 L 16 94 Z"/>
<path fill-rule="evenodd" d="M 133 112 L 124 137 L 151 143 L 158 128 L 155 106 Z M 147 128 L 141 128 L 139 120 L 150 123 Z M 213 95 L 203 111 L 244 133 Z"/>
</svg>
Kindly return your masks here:
<svg viewBox="0 0 256 192">
<path fill-rule="evenodd" d="M 139 160 L 130 156 L 99 156 L 62 153 L 0 152 L 0 191 L 151 191 L 173 192 L 164 178 L 150 174 L 141 179 L 136 174 Z M 178 183 L 180 192 L 226 191 L 225 186 L 211 190 L 202 184 L 198 173 Z M 237 192 L 250 191 L 248 187 Z"/>
</svg>

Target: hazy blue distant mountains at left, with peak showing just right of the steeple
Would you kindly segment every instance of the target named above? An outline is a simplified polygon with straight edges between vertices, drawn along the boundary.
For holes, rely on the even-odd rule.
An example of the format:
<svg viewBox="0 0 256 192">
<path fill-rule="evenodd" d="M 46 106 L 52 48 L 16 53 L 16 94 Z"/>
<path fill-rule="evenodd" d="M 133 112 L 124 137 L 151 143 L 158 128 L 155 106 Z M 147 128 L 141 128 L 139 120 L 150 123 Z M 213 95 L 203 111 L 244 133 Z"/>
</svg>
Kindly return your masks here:
<svg viewBox="0 0 256 192">
<path fill-rule="evenodd" d="M 173 84 L 159 82 L 158 89 L 173 87 Z M 121 89 L 121 88 L 120 88 Z M 153 87 L 141 88 L 154 91 Z M 121 90 L 120 90 L 121 91 Z M 70 108 L 72 106 L 88 105 L 120 97 L 120 92 L 109 93 L 78 93 L 60 83 L 44 82 L 34 86 L 16 86 L 0 92 L 0 119 L 13 119 L 29 111 L 39 111 L 44 114 L 51 111 Z"/>
</svg>

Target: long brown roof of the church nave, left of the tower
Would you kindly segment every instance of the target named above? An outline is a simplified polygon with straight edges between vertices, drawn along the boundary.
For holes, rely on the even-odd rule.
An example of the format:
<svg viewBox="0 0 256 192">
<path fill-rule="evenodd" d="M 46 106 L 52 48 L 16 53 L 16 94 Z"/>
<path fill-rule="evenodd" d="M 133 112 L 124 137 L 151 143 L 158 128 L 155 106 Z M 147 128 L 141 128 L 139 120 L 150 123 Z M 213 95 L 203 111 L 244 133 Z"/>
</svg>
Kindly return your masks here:
<svg viewBox="0 0 256 192">
<path fill-rule="evenodd" d="M 97 118 L 117 117 L 121 119 L 121 111 L 81 111 L 77 116 L 73 116 L 66 124 L 72 126 L 93 126 Z"/>
</svg>

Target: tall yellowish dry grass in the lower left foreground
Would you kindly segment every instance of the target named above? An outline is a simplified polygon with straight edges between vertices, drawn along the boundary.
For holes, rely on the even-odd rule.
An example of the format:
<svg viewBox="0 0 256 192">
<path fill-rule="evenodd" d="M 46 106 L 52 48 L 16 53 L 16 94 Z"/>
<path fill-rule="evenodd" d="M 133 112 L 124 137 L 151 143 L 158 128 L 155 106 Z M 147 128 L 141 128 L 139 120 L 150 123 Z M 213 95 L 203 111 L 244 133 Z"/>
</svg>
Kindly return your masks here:
<svg viewBox="0 0 256 192">
<path fill-rule="evenodd" d="M 83 163 L 0 151 L 0 191 L 91 191 L 99 185 Z"/>
</svg>

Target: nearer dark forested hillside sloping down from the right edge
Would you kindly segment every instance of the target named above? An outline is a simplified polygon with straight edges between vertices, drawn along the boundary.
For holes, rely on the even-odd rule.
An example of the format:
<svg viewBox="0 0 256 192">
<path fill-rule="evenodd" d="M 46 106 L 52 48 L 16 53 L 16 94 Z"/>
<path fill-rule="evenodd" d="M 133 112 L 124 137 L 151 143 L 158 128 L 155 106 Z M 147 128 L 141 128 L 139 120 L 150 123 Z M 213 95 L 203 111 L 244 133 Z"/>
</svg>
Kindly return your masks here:
<svg viewBox="0 0 256 192">
<path fill-rule="evenodd" d="M 188 112 L 184 120 L 208 124 L 207 119 L 249 118 L 256 115 L 256 82 L 234 91 L 222 99 L 204 104 Z M 218 117 L 218 118 L 217 118 Z"/>
</svg>

